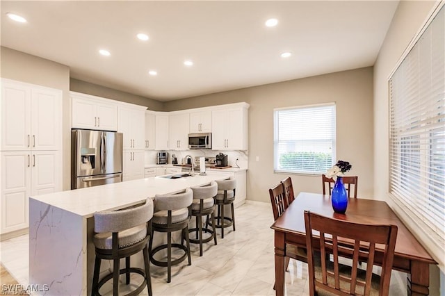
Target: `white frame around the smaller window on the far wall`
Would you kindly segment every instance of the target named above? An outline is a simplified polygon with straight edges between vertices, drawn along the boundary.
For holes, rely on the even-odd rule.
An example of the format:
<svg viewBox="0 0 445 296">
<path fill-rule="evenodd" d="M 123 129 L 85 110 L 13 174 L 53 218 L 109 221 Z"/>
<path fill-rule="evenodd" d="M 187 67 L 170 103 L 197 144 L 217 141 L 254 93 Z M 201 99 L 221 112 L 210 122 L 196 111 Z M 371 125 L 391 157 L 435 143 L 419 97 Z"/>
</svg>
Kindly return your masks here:
<svg viewBox="0 0 445 296">
<path fill-rule="evenodd" d="M 277 174 L 299 174 L 305 176 L 321 176 L 321 174 L 325 174 L 325 170 L 322 171 L 309 171 L 309 170 L 283 170 L 279 168 L 280 164 L 280 156 L 278 155 L 278 145 L 279 135 L 280 135 L 280 126 L 278 123 L 278 115 L 280 111 L 284 110 L 302 110 L 302 109 L 311 109 L 311 108 L 323 108 L 330 107 L 332 108 L 333 118 L 332 118 L 332 151 L 331 151 L 331 161 L 329 167 L 326 167 L 326 170 L 332 167 L 334 163 L 336 163 L 337 157 L 337 104 L 335 102 L 323 103 L 323 104 L 310 104 L 310 105 L 302 105 L 302 106 L 290 106 L 290 107 L 282 107 L 282 108 L 274 108 L 273 109 L 273 172 Z"/>
</svg>

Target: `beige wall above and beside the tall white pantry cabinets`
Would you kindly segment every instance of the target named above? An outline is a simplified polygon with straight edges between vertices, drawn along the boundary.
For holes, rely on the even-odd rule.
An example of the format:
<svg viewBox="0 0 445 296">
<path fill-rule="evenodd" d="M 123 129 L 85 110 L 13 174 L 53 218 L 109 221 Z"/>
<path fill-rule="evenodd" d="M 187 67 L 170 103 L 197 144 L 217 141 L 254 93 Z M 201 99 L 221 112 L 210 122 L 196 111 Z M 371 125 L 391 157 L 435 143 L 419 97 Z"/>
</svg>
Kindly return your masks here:
<svg viewBox="0 0 445 296">
<path fill-rule="evenodd" d="M 31 56 L 21 51 L 1 47 L 0 76 L 63 91 L 63 189 L 70 189 L 70 68 L 51 60 L 45 60 L 44 58 Z"/>
</svg>

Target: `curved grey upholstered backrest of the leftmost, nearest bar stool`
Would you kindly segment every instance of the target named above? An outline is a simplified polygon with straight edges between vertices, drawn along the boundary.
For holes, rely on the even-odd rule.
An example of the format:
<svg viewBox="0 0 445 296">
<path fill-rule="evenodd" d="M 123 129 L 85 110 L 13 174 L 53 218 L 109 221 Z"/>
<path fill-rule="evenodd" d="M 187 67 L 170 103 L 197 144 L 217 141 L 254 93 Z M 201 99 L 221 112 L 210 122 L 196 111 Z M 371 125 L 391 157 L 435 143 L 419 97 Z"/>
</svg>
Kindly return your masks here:
<svg viewBox="0 0 445 296">
<path fill-rule="evenodd" d="M 119 232 L 139 226 L 153 217 L 153 201 L 147 199 L 142 206 L 127 208 L 120 211 L 96 212 L 95 232 Z"/>
</svg>

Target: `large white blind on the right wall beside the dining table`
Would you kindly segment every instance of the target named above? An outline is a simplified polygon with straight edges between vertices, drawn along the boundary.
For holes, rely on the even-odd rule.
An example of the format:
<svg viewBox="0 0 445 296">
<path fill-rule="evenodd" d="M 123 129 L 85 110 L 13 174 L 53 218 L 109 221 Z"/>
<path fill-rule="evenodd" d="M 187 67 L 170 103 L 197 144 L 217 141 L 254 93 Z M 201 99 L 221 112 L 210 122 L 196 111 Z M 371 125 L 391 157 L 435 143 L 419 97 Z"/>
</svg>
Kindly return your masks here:
<svg viewBox="0 0 445 296">
<path fill-rule="evenodd" d="M 445 7 L 445 6 L 444 6 Z M 445 8 L 389 79 L 389 192 L 445 241 Z M 425 229 L 427 230 L 427 229 Z"/>
</svg>

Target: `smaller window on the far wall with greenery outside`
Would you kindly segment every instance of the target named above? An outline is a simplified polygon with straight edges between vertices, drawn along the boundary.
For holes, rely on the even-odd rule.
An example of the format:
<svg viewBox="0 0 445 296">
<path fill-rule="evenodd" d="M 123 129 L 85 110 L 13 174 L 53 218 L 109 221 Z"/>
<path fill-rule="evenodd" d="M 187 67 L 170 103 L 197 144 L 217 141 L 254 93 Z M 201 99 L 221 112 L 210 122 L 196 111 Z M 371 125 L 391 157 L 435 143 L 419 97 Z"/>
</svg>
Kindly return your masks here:
<svg viewBox="0 0 445 296">
<path fill-rule="evenodd" d="M 335 160 L 335 104 L 274 110 L 275 172 L 323 174 Z"/>
</svg>

